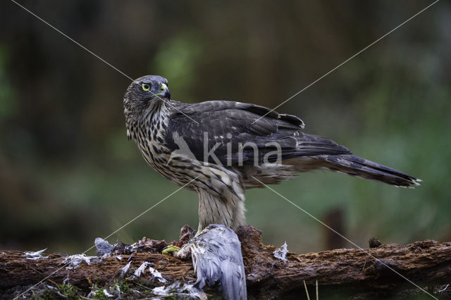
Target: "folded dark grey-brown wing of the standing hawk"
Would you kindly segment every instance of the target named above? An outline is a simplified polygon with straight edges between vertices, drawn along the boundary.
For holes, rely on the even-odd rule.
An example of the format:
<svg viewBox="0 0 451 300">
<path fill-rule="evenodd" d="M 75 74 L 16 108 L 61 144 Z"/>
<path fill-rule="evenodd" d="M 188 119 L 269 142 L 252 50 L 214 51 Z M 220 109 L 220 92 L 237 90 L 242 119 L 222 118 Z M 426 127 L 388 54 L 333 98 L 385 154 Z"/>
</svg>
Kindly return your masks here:
<svg viewBox="0 0 451 300">
<path fill-rule="evenodd" d="M 329 139 L 300 132 L 304 123 L 296 116 L 263 106 L 234 101 L 176 104 L 179 111 L 171 115 L 165 142 L 171 149 L 181 149 L 183 139 L 181 142 L 199 161 L 215 163 L 217 158 L 223 164 L 252 163 L 276 150 L 280 150 L 282 159 L 350 153 Z M 276 158 L 275 154 L 268 160 Z"/>
</svg>

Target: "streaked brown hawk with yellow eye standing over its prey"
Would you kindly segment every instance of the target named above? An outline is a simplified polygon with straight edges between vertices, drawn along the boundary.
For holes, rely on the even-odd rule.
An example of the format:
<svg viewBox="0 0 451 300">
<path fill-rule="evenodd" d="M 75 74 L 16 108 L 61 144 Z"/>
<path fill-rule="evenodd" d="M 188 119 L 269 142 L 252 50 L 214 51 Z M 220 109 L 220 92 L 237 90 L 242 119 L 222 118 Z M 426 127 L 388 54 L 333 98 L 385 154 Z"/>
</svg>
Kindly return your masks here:
<svg viewBox="0 0 451 300">
<path fill-rule="evenodd" d="M 327 169 L 398 187 L 421 180 L 308 135 L 295 115 L 255 104 L 171 100 L 168 80 L 134 80 L 123 99 L 127 136 L 158 173 L 199 195 L 198 233 L 245 223 L 245 189 Z"/>
</svg>

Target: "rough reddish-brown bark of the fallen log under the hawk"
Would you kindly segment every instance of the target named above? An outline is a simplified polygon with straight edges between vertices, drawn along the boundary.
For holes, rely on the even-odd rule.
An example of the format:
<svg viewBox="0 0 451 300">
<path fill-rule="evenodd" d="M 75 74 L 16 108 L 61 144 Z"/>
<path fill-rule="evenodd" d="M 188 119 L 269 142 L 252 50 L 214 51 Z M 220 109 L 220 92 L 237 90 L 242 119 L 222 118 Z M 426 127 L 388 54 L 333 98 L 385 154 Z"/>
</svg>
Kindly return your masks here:
<svg viewBox="0 0 451 300">
<path fill-rule="evenodd" d="M 318 253 L 295 254 L 289 252 L 288 261 L 275 258 L 274 246 L 261 243 L 261 232 L 247 225 L 237 229 L 242 242 L 243 261 L 247 275 L 249 296 L 272 297 L 304 291 L 304 280 L 308 286 L 318 281 L 320 294 L 347 291 L 346 294 L 393 293 L 412 289 L 429 293 L 451 283 L 451 242 L 439 243 L 431 240 L 413 244 L 383 244 L 377 248 L 335 249 Z M 44 255 L 44 254 L 43 254 Z M 16 286 L 29 286 L 52 275 L 47 282 L 68 283 L 81 289 L 89 289 L 92 282 L 102 285 L 113 278 L 121 277 L 121 268 L 128 263 L 130 255 L 104 258 L 97 262 L 81 263 L 77 268 L 66 269 L 66 256 L 49 254 L 48 258 L 30 260 L 22 251 L 0 253 L 0 289 L 6 291 Z M 377 259 L 376 259 L 377 258 Z M 183 261 L 173 256 L 152 253 L 135 253 L 131 260 L 133 270 L 147 261 L 159 270 L 169 282 L 195 280 L 192 261 Z M 68 275 L 69 274 L 69 275 Z M 405 278 L 403 278 L 403 277 Z M 149 277 L 149 274 L 147 274 Z M 435 296 L 443 296 L 444 289 Z M 340 293 L 339 293 L 340 294 Z M 447 294 L 449 295 L 449 294 Z"/>
</svg>

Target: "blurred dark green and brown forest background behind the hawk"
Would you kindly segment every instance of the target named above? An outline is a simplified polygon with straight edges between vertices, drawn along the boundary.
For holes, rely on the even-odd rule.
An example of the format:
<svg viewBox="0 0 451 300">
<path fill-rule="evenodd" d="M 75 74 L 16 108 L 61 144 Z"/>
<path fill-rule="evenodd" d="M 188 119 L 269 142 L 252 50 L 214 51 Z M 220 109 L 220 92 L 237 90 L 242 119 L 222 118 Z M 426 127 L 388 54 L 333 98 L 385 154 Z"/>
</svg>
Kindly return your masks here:
<svg viewBox="0 0 451 300">
<path fill-rule="evenodd" d="M 20 1 L 173 99 L 274 107 L 432 1 Z M 316 172 L 274 186 L 360 246 L 451 240 L 451 6 L 440 1 L 309 87 L 280 113 L 306 132 L 424 180 L 400 189 Z M 80 253 L 173 183 L 125 137 L 130 80 L 8 0 L 0 3 L 0 249 Z M 350 246 L 268 189 L 247 222 L 291 251 Z M 197 227 L 180 191 L 109 240 L 171 241 Z"/>
</svg>

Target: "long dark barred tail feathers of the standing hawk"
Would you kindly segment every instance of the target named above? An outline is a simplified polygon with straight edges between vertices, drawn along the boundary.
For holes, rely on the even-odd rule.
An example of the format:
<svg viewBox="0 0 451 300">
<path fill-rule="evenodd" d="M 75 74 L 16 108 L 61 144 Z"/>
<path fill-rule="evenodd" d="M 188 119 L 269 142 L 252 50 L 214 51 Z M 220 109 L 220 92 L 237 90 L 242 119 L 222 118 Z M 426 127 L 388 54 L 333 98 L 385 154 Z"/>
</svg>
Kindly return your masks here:
<svg viewBox="0 0 451 300">
<path fill-rule="evenodd" d="M 387 183 L 388 185 L 412 187 L 419 185 L 419 182 L 421 182 L 421 180 L 413 176 L 353 154 L 323 154 L 310 157 L 319 160 L 321 168 Z"/>
</svg>

